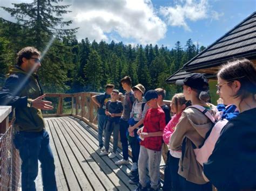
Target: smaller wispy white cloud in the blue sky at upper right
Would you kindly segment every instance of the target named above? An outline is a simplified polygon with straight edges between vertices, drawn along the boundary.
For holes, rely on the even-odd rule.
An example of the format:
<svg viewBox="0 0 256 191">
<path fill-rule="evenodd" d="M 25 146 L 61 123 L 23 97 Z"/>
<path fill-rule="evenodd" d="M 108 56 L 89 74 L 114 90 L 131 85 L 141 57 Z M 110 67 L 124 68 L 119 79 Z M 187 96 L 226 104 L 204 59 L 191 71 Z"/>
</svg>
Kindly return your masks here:
<svg viewBox="0 0 256 191">
<path fill-rule="evenodd" d="M 179 0 L 174 6 L 161 6 L 159 11 L 166 18 L 168 25 L 181 26 L 187 31 L 191 31 L 187 20 L 196 22 L 200 19 L 219 19 L 223 16 L 223 13 L 211 10 L 208 0 Z"/>
</svg>

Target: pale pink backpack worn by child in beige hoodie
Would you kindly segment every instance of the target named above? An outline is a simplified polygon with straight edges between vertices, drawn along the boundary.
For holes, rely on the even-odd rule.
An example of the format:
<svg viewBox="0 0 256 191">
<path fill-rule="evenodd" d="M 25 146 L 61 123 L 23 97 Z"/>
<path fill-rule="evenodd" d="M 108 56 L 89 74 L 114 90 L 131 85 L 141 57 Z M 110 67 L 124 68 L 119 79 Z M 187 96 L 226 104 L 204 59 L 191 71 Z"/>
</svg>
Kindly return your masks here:
<svg viewBox="0 0 256 191">
<path fill-rule="evenodd" d="M 228 121 L 227 119 L 221 119 L 221 114 L 219 112 L 217 112 L 215 116 L 212 116 L 210 111 L 208 111 L 201 105 L 192 105 L 190 106 L 190 108 L 191 107 L 203 112 L 203 114 L 208 117 L 214 124 L 213 128 L 210 130 L 210 134 L 207 133 L 208 137 L 206 136 L 207 138 L 205 139 L 203 146 L 201 146 L 200 148 L 194 148 L 196 159 L 203 166 L 203 164 L 208 161 L 208 158 L 212 154 L 214 146 L 220 136 L 220 132 Z"/>
</svg>

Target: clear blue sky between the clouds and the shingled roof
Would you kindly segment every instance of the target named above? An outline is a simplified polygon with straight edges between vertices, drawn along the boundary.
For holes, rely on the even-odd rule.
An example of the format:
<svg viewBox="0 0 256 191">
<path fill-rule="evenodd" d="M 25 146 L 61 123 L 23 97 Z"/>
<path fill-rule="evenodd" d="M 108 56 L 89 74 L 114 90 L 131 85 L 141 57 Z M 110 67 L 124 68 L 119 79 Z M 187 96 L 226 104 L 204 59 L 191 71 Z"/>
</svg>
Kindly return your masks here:
<svg viewBox="0 0 256 191">
<path fill-rule="evenodd" d="M 152 3 L 156 9 L 159 9 L 160 6 L 175 6 L 173 1 L 154 0 Z M 185 46 L 186 40 L 191 38 L 194 43 L 198 42 L 199 45 L 209 46 L 256 11 L 255 0 L 212 0 L 208 1 L 208 6 L 208 18 L 196 21 L 187 18 L 186 23 L 190 27 L 190 31 L 185 30 L 182 26 L 168 26 L 165 38 L 159 40 L 158 44 L 173 47 L 179 40 L 181 45 Z M 211 18 L 210 10 L 216 11 L 219 18 Z M 164 17 L 160 17 L 165 20 Z"/>
</svg>

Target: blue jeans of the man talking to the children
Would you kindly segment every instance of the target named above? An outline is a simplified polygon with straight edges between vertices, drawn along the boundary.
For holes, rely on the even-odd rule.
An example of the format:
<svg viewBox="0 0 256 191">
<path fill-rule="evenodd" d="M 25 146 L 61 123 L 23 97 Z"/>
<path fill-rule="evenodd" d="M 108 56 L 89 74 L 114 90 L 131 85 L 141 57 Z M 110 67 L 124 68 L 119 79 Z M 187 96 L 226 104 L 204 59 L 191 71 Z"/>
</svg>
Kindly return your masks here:
<svg viewBox="0 0 256 191">
<path fill-rule="evenodd" d="M 41 162 L 44 190 L 57 190 L 55 165 L 48 132 L 20 131 L 14 138 L 15 147 L 22 160 L 22 190 L 36 190 L 35 179 L 38 174 L 38 160 Z"/>
</svg>

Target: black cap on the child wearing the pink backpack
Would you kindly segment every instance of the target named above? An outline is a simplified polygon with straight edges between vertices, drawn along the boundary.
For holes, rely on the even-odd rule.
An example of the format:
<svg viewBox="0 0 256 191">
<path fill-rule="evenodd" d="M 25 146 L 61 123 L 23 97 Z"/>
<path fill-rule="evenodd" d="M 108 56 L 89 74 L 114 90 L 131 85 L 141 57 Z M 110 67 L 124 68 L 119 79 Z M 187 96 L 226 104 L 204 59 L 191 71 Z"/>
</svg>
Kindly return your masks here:
<svg viewBox="0 0 256 191">
<path fill-rule="evenodd" d="M 206 77 L 203 74 L 193 73 L 185 77 L 184 80 L 177 80 L 176 84 L 179 86 L 186 85 L 188 87 L 198 90 L 208 90 L 209 84 Z"/>
</svg>

